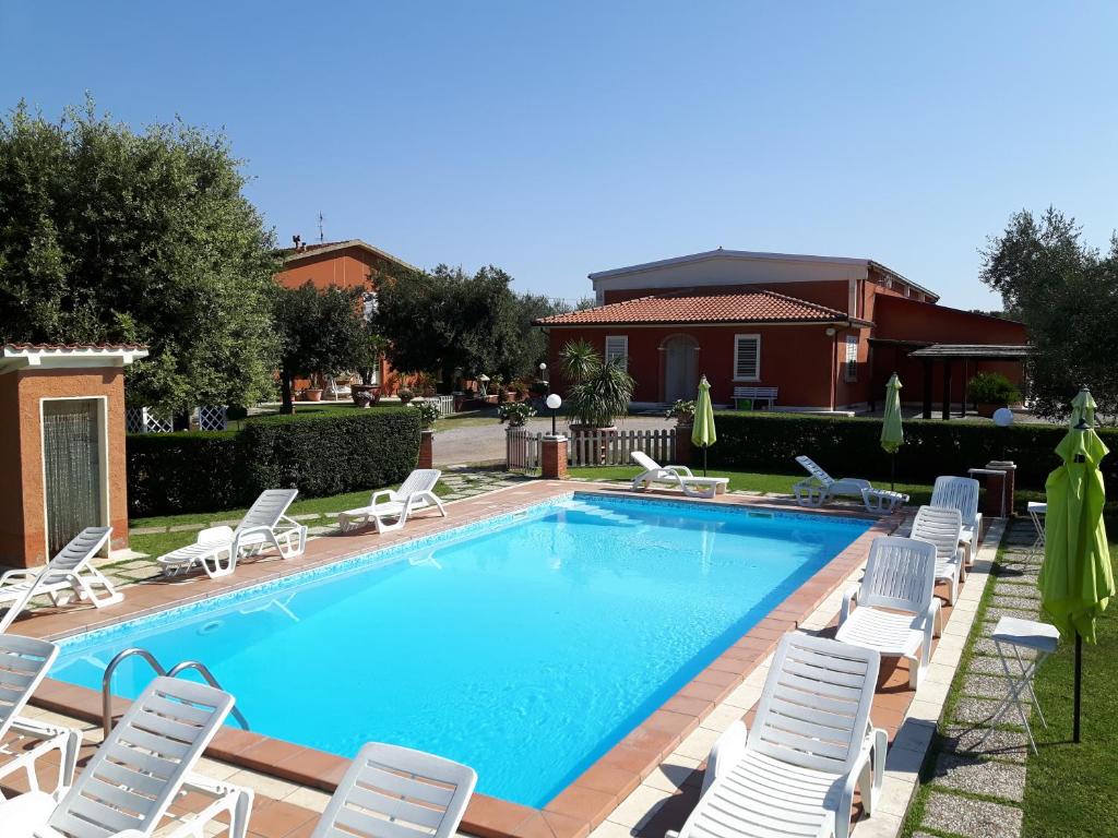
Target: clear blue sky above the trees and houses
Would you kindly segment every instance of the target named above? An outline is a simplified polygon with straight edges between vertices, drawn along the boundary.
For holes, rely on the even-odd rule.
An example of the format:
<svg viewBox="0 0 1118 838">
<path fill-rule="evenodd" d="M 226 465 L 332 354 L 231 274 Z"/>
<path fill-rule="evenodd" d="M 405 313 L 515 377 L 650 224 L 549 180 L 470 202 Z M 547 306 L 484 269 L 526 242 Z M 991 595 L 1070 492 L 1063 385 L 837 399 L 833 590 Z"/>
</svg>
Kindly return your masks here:
<svg viewBox="0 0 1118 838">
<path fill-rule="evenodd" d="M 718 246 L 870 257 L 996 307 L 977 250 L 1118 226 L 1114 2 L 0 0 L 0 107 L 224 127 L 278 240 L 586 274 Z"/>
</svg>

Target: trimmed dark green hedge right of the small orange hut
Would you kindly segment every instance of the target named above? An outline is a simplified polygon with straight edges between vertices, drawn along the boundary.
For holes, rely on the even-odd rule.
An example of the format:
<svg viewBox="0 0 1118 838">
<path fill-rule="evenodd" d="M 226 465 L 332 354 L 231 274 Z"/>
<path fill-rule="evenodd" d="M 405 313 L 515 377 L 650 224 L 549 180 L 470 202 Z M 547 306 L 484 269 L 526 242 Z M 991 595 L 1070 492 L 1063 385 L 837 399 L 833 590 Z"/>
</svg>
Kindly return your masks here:
<svg viewBox="0 0 1118 838">
<path fill-rule="evenodd" d="M 352 416 L 267 417 L 238 431 L 127 438 L 133 517 L 247 506 L 266 488 L 325 497 L 399 483 L 419 456 L 419 416 L 406 408 Z"/>
</svg>

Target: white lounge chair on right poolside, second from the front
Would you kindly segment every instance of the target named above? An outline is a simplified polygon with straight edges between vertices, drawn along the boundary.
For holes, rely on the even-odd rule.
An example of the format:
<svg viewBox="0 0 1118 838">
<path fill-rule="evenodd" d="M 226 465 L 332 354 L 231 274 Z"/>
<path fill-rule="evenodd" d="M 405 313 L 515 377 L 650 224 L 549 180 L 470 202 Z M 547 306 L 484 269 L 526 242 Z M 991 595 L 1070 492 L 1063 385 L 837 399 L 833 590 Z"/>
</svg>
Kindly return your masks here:
<svg viewBox="0 0 1118 838">
<path fill-rule="evenodd" d="M 883 658 L 906 658 L 909 685 L 918 687 L 931 658 L 931 639 L 939 635 L 935 587 L 934 544 L 874 539 L 862 583 L 843 594 L 835 637 L 873 649 Z"/>
</svg>

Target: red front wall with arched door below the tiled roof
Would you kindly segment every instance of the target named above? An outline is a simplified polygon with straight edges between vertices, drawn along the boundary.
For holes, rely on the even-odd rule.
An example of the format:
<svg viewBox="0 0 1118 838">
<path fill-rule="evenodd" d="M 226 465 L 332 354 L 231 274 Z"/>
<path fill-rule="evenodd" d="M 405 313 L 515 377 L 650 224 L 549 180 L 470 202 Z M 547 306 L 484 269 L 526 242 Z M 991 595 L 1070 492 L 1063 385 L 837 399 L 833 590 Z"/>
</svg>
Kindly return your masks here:
<svg viewBox="0 0 1118 838">
<path fill-rule="evenodd" d="M 636 379 L 634 401 L 663 401 L 660 346 L 679 334 L 699 343 L 699 373 L 711 384 L 716 403 L 730 403 L 735 387 L 777 387 L 777 404 L 826 408 L 831 404 L 831 359 L 834 339 L 822 325 L 804 326 L 663 326 L 663 327 L 552 327 L 551 360 L 553 385 L 560 394 L 567 382 L 559 374 L 559 350 L 582 339 L 605 352 L 606 335 L 628 335 L 628 371 Z M 761 336 L 760 381 L 733 381 L 733 335 Z"/>
</svg>

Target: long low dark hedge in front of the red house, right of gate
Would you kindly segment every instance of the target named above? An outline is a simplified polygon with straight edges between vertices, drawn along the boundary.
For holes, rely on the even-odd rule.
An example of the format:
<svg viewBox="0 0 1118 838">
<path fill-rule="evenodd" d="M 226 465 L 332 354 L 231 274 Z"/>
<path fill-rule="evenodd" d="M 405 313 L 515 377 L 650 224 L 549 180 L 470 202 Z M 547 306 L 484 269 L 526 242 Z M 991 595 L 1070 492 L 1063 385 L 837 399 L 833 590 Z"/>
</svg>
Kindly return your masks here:
<svg viewBox="0 0 1118 838">
<path fill-rule="evenodd" d="M 718 412 L 714 423 L 718 441 L 708 453 L 713 467 L 794 473 L 794 458 L 806 454 L 835 477 L 889 477 L 880 419 Z M 992 459 L 1010 459 L 1017 465 L 1018 486 L 1043 488 L 1060 465 L 1054 449 L 1067 432 L 1063 426 L 1040 423 L 998 428 L 963 419 L 906 421 L 897 478 L 929 483 L 936 475 L 965 475 Z M 1101 428 L 1099 435 L 1118 450 L 1118 429 Z M 1118 457 L 1102 460 L 1102 473 L 1108 482 L 1118 479 Z"/>
</svg>

